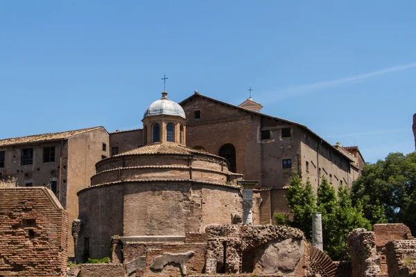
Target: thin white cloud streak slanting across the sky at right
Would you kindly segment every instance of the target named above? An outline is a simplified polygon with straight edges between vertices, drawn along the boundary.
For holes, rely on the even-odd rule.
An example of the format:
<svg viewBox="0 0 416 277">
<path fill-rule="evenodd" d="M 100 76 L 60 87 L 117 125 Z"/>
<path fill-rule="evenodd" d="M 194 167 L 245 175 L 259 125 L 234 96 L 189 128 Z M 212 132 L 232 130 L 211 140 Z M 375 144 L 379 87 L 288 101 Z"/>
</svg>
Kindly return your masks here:
<svg viewBox="0 0 416 277">
<path fill-rule="evenodd" d="M 261 98 L 261 102 L 275 102 L 277 100 L 286 99 L 286 98 L 292 98 L 295 96 L 301 96 L 309 93 L 313 93 L 314 91 L 320 91 L 322 89 L 327 89 L 329 87 L 339 87 L 343 84 L 349 84 L 352 82 L 359 82 L 361 80 L 372 78 L 379 75 L 384 75 L 387 73 L 392 73 L 396 71 L 402 71 L 405 69 L 412 69 L 416 67 L 416 62 L 411 64 L 401 64 L 398 66 L 391 66 L 386 69 L 381 69 L 378 71 L 373 71 L 370 73 L 355 75 L 352 77 L 347 78 L 340 78 L 336 80 L 329 80 L 324 82 L 315 82 L 312 84 L 302 84 L 292 87 L 286 87 L 277 89 L 277 91 L 273 91 L 270 93 L 265 93 L 261 95 L 259 98 Z M 272 96 L 272 97 L 270 97 Z"/>
</svg>

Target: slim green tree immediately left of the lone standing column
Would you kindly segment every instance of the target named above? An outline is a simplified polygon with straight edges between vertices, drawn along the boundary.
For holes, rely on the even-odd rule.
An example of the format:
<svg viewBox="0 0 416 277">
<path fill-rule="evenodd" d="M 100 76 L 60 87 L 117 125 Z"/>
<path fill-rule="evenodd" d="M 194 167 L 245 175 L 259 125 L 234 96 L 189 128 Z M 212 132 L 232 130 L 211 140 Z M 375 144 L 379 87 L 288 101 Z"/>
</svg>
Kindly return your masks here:
<svg viewBox="0 0 416 277">
<path fill-rule="evenodd" d="M 286 197 L 293 213 L 292 226 L 304 231 L 306 238 L 312 238 L 312 212 L 316 211 L 315 195 L 309 179 L 302 183 L 299 174 L 293 170 L 289 192 Z"/>
</svg>

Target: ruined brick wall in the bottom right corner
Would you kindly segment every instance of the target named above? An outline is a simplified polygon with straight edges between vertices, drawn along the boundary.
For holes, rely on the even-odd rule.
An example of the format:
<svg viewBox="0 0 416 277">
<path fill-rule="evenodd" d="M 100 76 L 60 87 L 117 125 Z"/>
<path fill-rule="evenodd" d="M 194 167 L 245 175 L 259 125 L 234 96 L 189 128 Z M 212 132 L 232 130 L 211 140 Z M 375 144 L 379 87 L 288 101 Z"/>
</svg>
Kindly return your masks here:
<svg viewBox="0 0 416 277">
<path fill-rule="evenodd" d="M 388 276 L 416 276 L 416 240 L 395 240 L 385 245 Z"/>
</svg>

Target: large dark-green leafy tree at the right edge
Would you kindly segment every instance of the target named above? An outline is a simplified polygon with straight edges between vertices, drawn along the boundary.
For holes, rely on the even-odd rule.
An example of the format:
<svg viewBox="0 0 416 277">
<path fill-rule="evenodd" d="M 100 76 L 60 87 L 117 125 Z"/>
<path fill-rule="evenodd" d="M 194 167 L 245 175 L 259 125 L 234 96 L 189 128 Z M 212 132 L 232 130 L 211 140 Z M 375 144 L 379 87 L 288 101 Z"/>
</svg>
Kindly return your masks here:
<svg viewBox="0 0 416 277">
<path fill-rule="evenodd" d="M 416 234 L 416 152 L 390 153 L 367 164 L 352 186 L 353 204 L 361 202 L 372 224 L 403 222 Z"/>
</svg>

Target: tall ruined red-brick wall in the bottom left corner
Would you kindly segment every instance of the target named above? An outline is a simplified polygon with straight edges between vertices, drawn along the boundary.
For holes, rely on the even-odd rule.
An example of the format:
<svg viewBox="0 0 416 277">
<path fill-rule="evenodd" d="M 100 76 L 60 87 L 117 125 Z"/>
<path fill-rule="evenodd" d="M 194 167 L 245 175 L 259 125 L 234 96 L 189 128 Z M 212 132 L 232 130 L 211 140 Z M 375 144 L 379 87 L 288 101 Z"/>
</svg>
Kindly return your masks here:
<svg viewBox="0 0 416 277">
<path fill-rule="evenodd" d="M 0 188 L 0 276 L 64 276 L 68 214 L 43 187 Z"/>
</svg>

